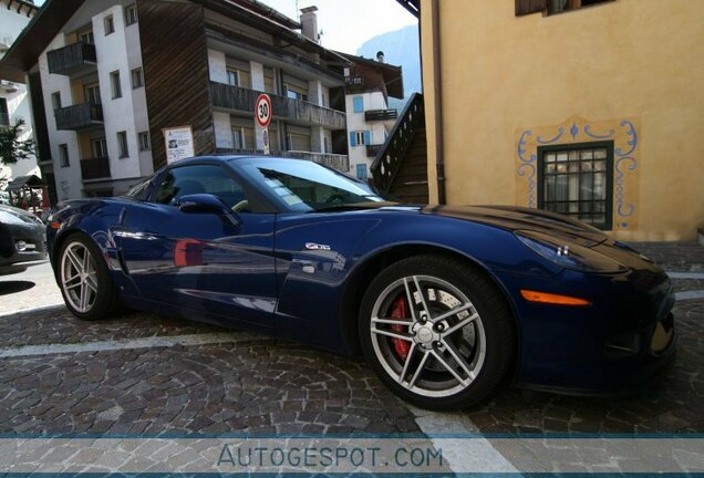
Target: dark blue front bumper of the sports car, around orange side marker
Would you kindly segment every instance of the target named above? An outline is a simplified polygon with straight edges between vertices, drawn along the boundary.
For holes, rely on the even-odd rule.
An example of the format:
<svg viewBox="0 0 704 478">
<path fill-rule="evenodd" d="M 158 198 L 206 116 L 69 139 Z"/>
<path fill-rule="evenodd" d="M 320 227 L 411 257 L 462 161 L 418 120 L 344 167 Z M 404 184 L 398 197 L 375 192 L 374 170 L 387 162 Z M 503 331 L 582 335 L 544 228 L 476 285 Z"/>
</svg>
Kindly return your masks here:
<svg viewBox="0 0 704 478">
<path fill-rule="evenodd" d="M 578 394 L 613 394 L 652 383 L 673 363 L 674 293 L 654 264 L 630 258 L 629 271 L 557 278 L 510 278 L 520 328 L 516 383 Z M 506 283 L 506 282 L 505 282 Z M 530 303 L 535 289 L 591 301 L 589 306 Z"/>
</svg>

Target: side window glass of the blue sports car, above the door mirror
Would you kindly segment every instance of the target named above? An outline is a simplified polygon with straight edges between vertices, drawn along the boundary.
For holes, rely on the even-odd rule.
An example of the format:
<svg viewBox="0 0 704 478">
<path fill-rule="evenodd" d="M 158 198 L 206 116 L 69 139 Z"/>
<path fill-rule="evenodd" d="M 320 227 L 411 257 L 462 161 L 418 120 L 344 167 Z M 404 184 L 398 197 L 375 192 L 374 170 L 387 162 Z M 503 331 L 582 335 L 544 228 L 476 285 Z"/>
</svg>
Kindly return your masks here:
<svg viewBox="0 0 704 478">
<path fill-rule="evenodd" d="M 175 206 L 178 199 L 195 194 L 210 194 L 236 212 L 248 211 L 242 187 L 218 166 L 194 165 L 169 169 L 159 178 L 154 201 Z"/>
</svg>

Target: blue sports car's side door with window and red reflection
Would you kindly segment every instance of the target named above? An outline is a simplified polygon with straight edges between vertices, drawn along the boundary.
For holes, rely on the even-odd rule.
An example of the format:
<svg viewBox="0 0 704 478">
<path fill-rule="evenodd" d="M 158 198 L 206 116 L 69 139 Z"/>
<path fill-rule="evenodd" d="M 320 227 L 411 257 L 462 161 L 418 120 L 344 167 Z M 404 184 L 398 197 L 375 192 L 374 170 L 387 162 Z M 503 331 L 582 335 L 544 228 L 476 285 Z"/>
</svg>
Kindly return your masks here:
<svg viewBox="0 0 704 478">
<path fill-rule="evenodd" d="M 228 214 L 185 212 L 179 198 L 209 194 Z M 250 212 L 226 166 L 170 168 L 152 200 L 125 207 L 120 247 L 142 299 L 224 324 L 271 328 L 276 305 L 273 214 Z"/>
</svg>

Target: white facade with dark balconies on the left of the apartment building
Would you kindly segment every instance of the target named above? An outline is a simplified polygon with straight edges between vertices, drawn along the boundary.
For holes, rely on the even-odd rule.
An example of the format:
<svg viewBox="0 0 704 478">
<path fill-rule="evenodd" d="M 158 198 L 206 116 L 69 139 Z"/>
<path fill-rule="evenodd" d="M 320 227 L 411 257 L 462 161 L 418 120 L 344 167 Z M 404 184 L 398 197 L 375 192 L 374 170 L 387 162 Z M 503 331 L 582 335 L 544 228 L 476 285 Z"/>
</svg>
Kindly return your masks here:
<svg viewBox="0 0 704 478">
<path fill-rule="evenodd" d="M 59 200 L 124 194 L 154 172 L 135 13 L 86 2 L 39 58 Z"/>
</svg>

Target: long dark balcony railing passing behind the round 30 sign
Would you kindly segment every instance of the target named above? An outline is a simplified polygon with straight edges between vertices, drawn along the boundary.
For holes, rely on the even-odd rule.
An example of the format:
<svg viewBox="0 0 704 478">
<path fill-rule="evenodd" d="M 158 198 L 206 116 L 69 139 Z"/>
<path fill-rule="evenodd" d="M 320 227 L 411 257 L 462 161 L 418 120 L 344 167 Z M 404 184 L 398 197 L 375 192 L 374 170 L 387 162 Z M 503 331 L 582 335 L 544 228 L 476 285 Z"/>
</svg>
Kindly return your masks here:
<svg viewBox="0 0 704 478">
<path fill-rule="evenodd" d="M 255 115 L 255 102 L 261 92 L 232 86 L 225 83 L 210 82 L 213 106 L 226 110 L 249 112 Z M 344 129 L 346 127 L 343 112 L 314 105 L 304 101 L 286 96 L 269 95 L 275 117 L 294 119 L 309 125 L 320 125 L 328 129 Z"/>
</svg>

